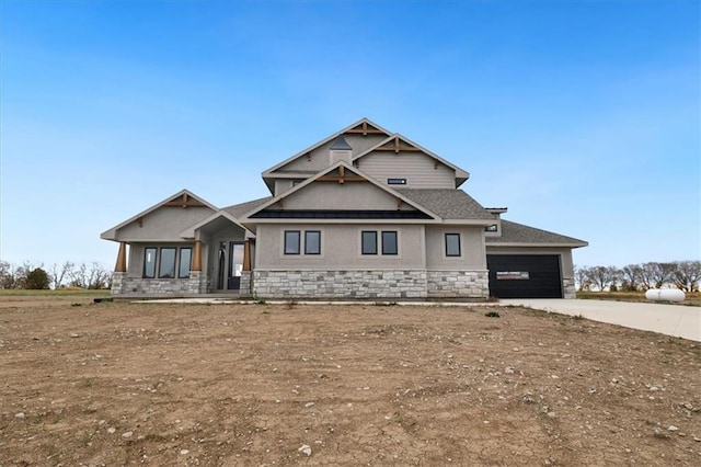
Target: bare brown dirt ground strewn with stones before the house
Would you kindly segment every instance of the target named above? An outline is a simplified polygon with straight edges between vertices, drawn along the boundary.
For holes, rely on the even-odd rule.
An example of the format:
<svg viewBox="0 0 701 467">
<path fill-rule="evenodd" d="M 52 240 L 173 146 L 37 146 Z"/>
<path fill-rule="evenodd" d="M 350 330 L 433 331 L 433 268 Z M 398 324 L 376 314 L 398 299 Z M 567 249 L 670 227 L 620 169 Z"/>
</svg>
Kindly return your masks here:
<svg viewBox="0 0 701 467">
<path fill-rule="evenodd" d="M 522 308 L 0 301 L 2 466 L 699 465 L 700 408 L 698 343 Z"/>
</svg>

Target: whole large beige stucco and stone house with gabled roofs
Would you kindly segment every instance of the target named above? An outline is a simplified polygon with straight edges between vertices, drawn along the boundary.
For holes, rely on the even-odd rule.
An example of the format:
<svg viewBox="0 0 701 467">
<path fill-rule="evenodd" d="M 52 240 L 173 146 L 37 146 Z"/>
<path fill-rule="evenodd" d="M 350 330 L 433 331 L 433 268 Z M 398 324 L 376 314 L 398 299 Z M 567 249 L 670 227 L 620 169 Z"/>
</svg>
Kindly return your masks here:
<svg viewBox="0 0 701 467">
<path fill-rule="evenodd" d="M 575 238 L 502 219 L 470 174 L 363 118 L 263 172 L 271 196 L 183 190 L 103 232 L 112 293 L 261 298 L 574 297 Z"/>
</svg>

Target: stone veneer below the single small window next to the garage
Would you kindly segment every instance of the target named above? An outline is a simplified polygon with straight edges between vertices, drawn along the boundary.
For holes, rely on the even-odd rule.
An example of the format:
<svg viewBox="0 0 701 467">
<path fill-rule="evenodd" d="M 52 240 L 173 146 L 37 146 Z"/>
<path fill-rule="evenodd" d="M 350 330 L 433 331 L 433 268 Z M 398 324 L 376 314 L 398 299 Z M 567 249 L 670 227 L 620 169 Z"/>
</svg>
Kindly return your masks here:
<svg viewBox="0 0 701 467">
<path fill-rule="evenodd" d="M 429 298 L 489 298 L 489 271 L 428 271 Z"/>
</svg>

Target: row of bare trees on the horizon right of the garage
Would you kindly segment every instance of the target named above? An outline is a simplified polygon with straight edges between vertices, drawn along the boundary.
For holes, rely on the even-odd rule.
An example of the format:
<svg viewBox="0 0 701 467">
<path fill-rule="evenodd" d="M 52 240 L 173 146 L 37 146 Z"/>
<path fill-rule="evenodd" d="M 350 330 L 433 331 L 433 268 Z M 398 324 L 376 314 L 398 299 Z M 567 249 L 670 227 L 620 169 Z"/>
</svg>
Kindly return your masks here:
<svg viewBox="0 0 701 467">
<path fill-rule="evenodd" d="M 575 266 L 575 282 L 579 291 L 637 292 L 651 288 L 676 287 L 683 292 L 699 292 L 701 261 L 629 264 L 616 266 Z"/>
</svg>

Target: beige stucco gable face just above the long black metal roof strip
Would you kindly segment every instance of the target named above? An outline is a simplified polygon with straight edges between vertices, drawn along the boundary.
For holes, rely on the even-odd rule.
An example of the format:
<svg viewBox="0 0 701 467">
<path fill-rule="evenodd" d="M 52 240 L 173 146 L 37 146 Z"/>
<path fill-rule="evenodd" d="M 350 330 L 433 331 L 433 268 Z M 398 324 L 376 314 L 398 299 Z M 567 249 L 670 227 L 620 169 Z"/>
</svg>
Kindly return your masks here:
<svg viewBox="0 0 701 467">
<path fill-rule="evenodd" d="M 285 209 L 397 209 L 397 197 L 369 182 L 313 182 L 285 197 Z M 402 203 L 403 209 L 413 207 Z"/>
</svg>

